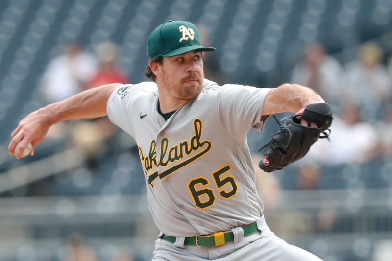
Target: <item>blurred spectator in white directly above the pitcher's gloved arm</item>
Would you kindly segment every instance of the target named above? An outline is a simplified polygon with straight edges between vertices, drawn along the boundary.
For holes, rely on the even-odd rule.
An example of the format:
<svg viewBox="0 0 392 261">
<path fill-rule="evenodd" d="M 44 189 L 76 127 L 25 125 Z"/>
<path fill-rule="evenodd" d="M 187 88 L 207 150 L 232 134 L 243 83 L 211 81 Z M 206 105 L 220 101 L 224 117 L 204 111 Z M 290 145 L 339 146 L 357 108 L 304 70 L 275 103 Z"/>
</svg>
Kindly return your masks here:
<svg viewBox="0 0 392 261">
<path fill-rule="evenodd" d="M 339 97 L 341 71 L 339 62 L 326 53 L 325 47 L 314 43 L 305 48 L 303 61 L 294 67 L 291 81 L 312 88 L 330 102 Z"/>
</svg>

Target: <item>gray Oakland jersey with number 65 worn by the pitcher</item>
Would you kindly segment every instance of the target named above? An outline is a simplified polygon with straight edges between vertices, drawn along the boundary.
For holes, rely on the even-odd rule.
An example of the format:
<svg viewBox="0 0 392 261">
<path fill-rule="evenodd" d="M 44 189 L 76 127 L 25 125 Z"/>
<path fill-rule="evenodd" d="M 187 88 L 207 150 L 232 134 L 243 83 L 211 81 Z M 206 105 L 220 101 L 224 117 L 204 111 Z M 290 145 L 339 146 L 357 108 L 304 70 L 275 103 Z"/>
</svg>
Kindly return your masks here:
<svg viewBox="0 0 392 261">
<path fill-rule="evenodd" d="M 123 87 L 110 96 L 108 117 L 138 144 L 156 226 L 166 235 L 195 236 L 260 219 L 246 134 L 262 129 L 270 89 L 204 79 L 200 95 L 165 120 L 155 83 L 127 86 L 123 98 Z"/>
</svg>

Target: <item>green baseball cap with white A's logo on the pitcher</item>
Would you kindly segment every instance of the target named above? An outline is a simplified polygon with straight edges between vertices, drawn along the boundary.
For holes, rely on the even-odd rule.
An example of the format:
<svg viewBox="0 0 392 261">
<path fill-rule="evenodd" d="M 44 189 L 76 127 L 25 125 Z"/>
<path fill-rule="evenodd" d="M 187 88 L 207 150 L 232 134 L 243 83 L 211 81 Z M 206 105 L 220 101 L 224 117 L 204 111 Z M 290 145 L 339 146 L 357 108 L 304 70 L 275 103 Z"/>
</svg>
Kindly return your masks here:
<svg viewBox="0 0 392 261">
<path fill-rule="evenodd" d="M 147 48 L 150 58 L 172 57 L 195 50 L 216 50 L 213 47 L 201 45 L 195 24 L 172 20 L 159 25 L 152 31 L 148 37 Z"/>
</svg>

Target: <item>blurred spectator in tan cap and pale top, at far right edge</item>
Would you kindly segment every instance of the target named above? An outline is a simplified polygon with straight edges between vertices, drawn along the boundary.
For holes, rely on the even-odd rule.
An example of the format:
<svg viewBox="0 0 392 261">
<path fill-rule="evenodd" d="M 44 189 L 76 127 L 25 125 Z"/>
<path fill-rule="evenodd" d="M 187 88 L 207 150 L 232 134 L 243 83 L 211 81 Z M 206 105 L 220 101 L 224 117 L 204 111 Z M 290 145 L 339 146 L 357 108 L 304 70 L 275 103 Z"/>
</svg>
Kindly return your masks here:
<svg viewBox="0 0 392 261">
<path fill-rule="evenodd" d="M 391 95 L 391 79 L 382 64 L 383 52 L 375 42 L 366 42 L 358 50 L 358 60 L 345 68 L 345 93 L 366 110 L 377 110 Z"/>
</svg>

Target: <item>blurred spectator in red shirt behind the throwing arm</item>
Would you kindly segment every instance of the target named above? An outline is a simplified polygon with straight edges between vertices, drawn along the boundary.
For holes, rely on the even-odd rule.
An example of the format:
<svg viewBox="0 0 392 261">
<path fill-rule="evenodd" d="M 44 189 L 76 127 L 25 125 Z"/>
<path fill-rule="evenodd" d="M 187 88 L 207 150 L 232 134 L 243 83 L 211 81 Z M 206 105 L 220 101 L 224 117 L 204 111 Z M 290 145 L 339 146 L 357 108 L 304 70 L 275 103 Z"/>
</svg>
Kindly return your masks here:
<svg viewBox="0 0 392 261">
<path fill-rule="evenodd" d="M 119 48 L 115 43 L 104 42 L 96 47 L 98 58 L 98 71 L 89 81 L 88 88 L 93 88 L 109 83 L 128 83 L 128 77 L 125 72 L 117 67 L 117 58 Z"/>
</svg>

